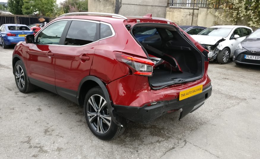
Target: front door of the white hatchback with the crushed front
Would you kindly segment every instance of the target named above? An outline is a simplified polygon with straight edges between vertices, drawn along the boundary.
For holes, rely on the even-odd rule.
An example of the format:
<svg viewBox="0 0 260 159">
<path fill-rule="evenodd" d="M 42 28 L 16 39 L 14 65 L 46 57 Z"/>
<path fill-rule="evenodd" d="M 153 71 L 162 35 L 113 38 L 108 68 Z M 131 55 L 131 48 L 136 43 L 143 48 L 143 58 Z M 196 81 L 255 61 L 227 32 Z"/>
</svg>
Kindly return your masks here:
<svg viewBox="0 0 260 159">
<path fill-rule="evenodd" d="M 239 38 L 234 39 L 234 35 L 238 35 Z M 242 40 L 244 40 L 241 28 L 236 28 L 229 38 L 229 47 L 230 47 L 230 57 L 234 55 L 234 51 L 236 49 L 237 44 L 239 44 Z"/>
</svg>

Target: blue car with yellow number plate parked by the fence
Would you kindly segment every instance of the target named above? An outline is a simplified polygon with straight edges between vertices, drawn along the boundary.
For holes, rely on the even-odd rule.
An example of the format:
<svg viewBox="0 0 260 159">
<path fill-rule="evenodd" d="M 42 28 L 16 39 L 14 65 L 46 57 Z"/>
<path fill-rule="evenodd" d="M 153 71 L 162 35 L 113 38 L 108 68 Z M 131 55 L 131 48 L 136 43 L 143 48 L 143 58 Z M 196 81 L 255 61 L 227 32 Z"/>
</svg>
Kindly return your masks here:
<svg viewBox="0 0 260 159">
<path fill-rule="evenodd" d="M 0 44 L 3 48 L 9 48 L 9 45 L 24 41 L 24 37 L 28 34 L 33 34 L 33 31 L 26 25 L 3 24 L 0 26 Z"/>
</svg>

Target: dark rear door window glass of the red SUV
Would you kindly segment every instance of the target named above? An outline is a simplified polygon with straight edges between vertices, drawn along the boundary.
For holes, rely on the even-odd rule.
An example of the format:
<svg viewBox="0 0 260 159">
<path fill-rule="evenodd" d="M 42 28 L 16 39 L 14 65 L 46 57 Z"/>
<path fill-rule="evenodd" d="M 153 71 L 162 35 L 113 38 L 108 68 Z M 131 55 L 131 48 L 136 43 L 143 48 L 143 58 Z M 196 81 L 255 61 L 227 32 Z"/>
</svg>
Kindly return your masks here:
<svg viewBox="0 0 260 159">
<path fill-rule="evenodd" d="M 96 41 L 97 23 L 72 21 L 64 45 L 86 45 Z"/>
</svg>

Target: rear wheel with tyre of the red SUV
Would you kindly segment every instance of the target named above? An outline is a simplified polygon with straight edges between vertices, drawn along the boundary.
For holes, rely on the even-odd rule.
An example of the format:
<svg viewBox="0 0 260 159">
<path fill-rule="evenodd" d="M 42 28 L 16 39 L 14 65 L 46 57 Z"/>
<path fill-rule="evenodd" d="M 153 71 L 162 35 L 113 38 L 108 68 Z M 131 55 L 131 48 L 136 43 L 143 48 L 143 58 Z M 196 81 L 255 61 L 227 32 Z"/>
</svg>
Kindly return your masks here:
<svg viewBox="0 0 260 159">
<path fill-rule="evenodd" d="M 109 115 L 104 93 L 100 87 L 88 91 L 84 100 L 84 114 L 91 132 L 102 140 L 111 140 L 120 136 L 126 127 L 127 120 L 116 117 L 123 127 L 116 125 Z"/>
</svg>

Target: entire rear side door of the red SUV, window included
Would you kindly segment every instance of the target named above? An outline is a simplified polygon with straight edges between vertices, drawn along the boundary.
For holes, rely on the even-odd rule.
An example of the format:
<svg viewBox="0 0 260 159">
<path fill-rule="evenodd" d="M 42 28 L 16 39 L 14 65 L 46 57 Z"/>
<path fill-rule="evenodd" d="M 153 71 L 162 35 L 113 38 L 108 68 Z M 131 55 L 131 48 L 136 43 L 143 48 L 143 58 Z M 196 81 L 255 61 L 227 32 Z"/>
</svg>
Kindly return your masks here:
<svg viewBox="0 0 260 159">
<path fill-rule="evenodd" d="M 99 45 L 99 22 L 72 20 L 69 29 L 56 51 L 56 90 L 70 100 L 76 99 L 80 81 L 89 75 L 93 54 Z"/>
</svg>

